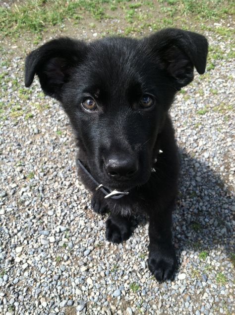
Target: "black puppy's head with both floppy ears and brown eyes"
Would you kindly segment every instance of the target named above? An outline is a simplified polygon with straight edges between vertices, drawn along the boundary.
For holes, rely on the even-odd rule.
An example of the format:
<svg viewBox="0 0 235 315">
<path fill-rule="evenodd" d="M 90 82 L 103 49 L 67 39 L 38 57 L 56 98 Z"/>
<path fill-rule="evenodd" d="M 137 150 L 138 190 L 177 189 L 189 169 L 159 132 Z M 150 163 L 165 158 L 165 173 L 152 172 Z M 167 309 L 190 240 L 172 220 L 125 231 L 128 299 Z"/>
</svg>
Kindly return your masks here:
<svg viewBox="0 0 235 315">
<path fill-rule="evenodd" d="M 90 44 L 60 38 L 27 56 L 25 85 L 37 74 L 61 102 L 99 182 L 130 189 L 148 181 L 167 111 L 194 67 L 204 73 L 207 49 L 205 37 L 178 29 Z"/>
</svg>

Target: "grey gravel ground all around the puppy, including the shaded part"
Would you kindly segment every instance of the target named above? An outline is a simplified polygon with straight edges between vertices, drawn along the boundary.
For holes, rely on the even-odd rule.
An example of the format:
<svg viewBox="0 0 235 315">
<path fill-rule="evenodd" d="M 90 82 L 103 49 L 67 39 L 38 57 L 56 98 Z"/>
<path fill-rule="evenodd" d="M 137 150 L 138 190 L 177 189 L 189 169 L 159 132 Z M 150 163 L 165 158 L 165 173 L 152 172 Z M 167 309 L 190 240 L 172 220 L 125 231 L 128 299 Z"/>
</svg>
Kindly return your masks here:
<svg viewBox="0 0 235 315">
<path fill-rule="evenodd" d="M 235 314 L 235 61 L 223 59 L 179 93 L 171 114 L 181 155 L 174 213 L 180 267 L 159 284 L 147 268 L 148 222 L 115 245 L 76 175 L 65 114 L 23 54 L 2 55 L 0 314 Z M 233 258 L 233 259 L 232 259 Z"/>
</svg>

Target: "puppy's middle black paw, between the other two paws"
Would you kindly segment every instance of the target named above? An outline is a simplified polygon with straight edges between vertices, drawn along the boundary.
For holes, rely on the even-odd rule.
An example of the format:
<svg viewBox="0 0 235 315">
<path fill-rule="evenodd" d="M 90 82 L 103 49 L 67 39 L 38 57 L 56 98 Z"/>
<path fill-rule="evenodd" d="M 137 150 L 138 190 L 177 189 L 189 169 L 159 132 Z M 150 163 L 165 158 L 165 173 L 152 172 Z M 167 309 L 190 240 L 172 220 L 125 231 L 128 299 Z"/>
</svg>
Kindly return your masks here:
<svg viewBox="0 0 235 315">
<path fill-rule="evenodd" d="M 106 239 L 113 243 L 121 243 L 131 235 L 131 222 L 127 218 L 109 216 L 106 221 Z"/>
</svg>

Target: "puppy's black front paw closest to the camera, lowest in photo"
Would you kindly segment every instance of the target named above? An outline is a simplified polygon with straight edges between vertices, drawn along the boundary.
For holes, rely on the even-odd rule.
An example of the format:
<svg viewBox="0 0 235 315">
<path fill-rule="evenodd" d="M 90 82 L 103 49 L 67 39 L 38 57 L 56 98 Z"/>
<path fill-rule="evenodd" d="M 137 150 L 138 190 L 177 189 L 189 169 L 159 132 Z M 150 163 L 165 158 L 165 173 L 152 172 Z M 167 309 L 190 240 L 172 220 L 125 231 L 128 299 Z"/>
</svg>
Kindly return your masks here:
<svg viewBox="0 0 235 315">
<path fill-rule="evenodd" d="M 149 252 L 148 265 L 151 273 L 159 282 L 171 280 L 176 271 L 175 249 L 154 249 Z"/>
</svg>

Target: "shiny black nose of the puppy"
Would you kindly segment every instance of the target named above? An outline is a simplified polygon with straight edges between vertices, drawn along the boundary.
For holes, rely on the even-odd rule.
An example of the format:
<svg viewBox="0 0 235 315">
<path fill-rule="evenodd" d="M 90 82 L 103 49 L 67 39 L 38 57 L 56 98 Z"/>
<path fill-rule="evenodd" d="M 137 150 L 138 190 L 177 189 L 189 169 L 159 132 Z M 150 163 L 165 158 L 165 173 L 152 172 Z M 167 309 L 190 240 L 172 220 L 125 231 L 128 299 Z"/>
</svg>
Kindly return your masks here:
<svg viewBox="0 0 235 315">
<path fill-rule="evenodd" d="M 138 162 L 133 158 L 127 157 L 109 158 L 105 166 L 108 174 L 115 179 L 129 179 L 138 170 Z"/>
</svg>

